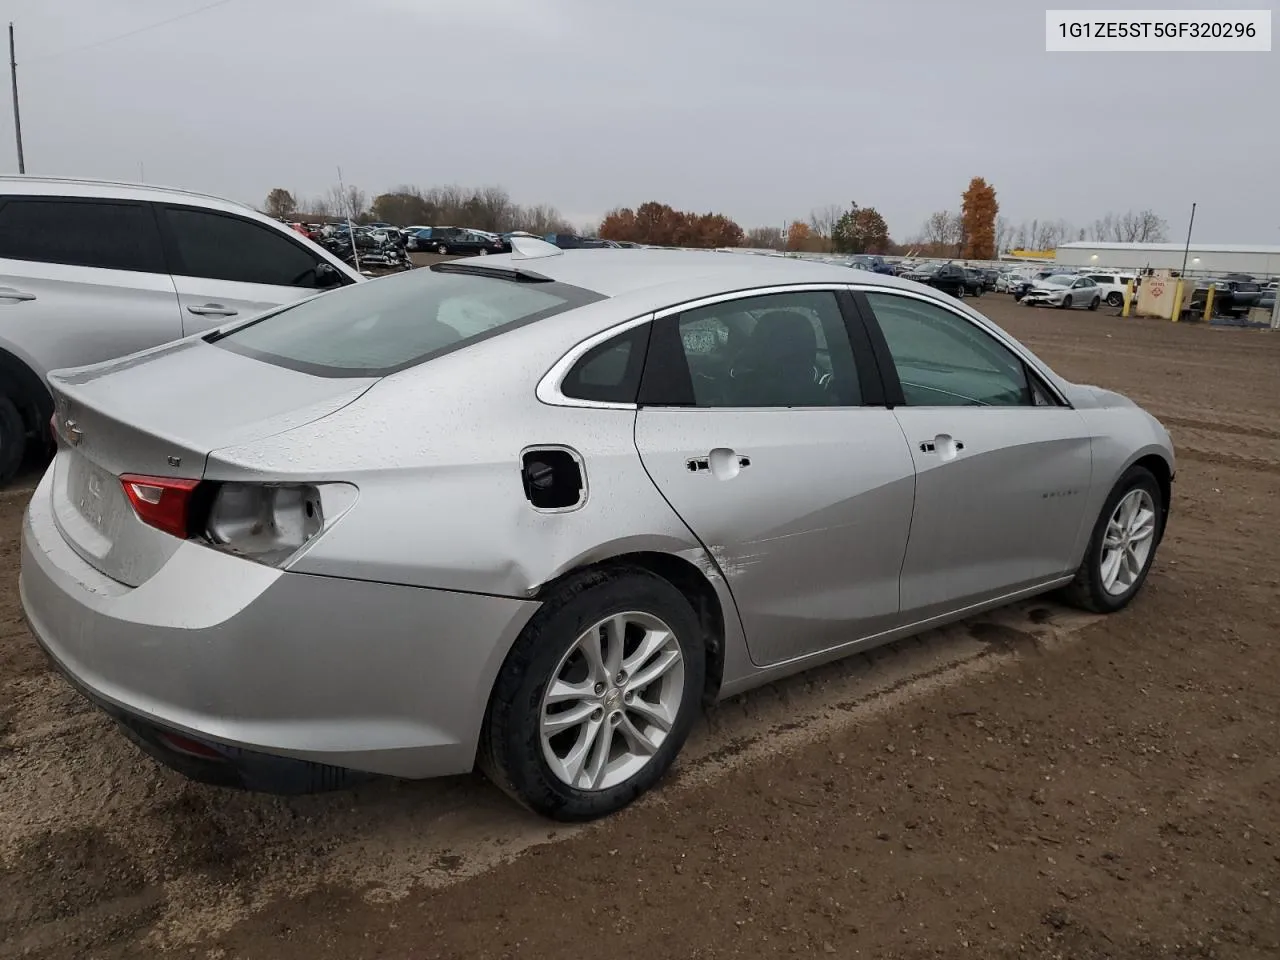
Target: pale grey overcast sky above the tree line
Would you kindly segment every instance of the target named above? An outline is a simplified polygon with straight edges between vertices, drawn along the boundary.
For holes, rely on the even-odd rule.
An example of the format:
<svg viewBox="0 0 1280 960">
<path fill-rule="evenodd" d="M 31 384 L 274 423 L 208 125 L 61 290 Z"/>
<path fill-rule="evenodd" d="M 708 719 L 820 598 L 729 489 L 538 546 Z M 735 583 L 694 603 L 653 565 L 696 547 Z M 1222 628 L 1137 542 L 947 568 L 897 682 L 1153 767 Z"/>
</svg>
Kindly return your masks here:
<svg viewBox="0 0 1280 960">
<path fill-rule="evenodd" d="M 0 8 L 27 173 L 141 164 L 260 205 L 340 164 L 370 195 L 502 184 L 579 224 L 646 200 L 746 228 L 856 201 L 895 238 L 983 175 L 1014 223 L 1149 206 L 1181 239 L 1196 201 L 1197 241 L 1280 244 L 1277 51 L 1047 54 L 1027 0 L 225 0 L 99 42 L 209 3 Z"/>
</svg>

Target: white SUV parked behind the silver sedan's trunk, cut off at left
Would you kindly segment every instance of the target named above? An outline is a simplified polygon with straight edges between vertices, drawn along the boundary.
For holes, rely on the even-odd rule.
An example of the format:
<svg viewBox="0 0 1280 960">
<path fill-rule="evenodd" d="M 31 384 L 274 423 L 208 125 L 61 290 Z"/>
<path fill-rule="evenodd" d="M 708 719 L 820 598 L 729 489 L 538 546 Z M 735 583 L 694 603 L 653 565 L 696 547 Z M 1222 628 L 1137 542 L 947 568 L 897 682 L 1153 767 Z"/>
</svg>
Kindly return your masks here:
<svg viewBox="0 0 1280 960">
<path fill-rule="evenodd" d="M 228 200 L 0 177 L 0 483 L 28 444 L 49 442 L 50 370 L 134 353 L 360 279 L 288 224 Z"/>
</svg>

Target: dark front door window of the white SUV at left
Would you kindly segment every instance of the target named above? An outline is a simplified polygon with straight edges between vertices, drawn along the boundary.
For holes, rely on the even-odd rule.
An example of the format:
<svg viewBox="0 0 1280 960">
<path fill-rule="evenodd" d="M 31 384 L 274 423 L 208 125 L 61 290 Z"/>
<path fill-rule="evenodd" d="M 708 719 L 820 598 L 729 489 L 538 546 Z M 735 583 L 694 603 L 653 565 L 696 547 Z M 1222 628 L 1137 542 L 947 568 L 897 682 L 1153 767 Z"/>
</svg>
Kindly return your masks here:
<svg viewBox="0 0 1280 960">
<path fill-rule="evenodd" d="M 164 207 L 178 276 L 317 288 L 316 256 L 283 232 L 232 214 Z"/>
</svg>

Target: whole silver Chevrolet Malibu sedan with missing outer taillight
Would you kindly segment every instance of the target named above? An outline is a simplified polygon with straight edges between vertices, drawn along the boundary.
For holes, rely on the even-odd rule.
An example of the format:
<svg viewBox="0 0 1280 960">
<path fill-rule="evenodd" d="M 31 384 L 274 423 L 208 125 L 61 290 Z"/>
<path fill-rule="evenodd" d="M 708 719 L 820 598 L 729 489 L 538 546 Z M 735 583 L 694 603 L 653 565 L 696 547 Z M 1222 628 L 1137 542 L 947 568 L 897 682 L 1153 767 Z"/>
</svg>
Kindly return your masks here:
<svg viewBox="0 0 1280 960">
<path fill-rule="evenodd" d="M 479 763 L 588 819 L 704 703 L 1047 590 L 1140 590 L 1169 434 L 963 303 L 513 246 L 50 375 L 22 602 L 142 749 L 276 792 Z"/>
</svg>

